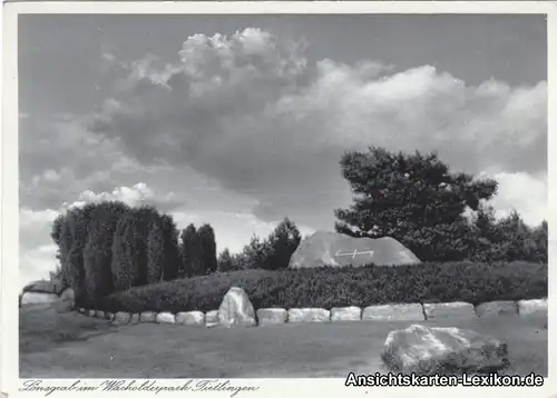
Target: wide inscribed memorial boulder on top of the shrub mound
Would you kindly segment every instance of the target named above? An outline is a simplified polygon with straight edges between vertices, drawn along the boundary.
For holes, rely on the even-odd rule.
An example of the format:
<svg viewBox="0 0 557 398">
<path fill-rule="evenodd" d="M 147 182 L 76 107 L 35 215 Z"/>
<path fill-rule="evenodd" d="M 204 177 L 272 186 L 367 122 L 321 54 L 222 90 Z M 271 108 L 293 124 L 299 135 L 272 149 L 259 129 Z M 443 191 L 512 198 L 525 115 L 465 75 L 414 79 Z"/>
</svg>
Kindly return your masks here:
<svg viewBox="0 0 557 398">
<path fill-rule="evenodd" d="M 290 259 L 291 268 L 400 266 L 420 260 L 397 239 L 352 238 L 346 235 L 317 231 L 300 242 Z"/>
</svg>

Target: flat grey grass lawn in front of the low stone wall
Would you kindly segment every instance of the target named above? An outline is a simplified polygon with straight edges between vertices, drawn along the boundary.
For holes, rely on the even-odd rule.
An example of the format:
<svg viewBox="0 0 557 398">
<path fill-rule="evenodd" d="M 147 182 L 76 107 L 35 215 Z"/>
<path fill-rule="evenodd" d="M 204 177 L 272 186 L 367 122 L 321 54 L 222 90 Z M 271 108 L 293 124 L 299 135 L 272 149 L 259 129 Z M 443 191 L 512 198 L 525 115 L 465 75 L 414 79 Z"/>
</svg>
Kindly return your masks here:
<svg viewBox="0 0 557 398">
<path fill-rule="evenodd" d="M 413 322 L 334 322 L 247 329 L 109 326 L 48 306 L 20 312 L 22 378 L 345 377 L 381 370 L 390 330 Z M 545 318 L 427 321 L 508 342 L 507 374 L 547 376 Z"/>
</svg>

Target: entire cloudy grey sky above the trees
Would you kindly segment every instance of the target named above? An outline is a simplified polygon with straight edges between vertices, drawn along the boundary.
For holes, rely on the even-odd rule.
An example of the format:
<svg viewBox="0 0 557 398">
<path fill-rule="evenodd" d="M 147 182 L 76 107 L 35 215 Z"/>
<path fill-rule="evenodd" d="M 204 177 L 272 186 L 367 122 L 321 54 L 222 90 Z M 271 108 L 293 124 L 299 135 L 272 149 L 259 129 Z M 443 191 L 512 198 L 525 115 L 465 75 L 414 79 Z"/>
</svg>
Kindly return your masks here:
<svg viewBox="0 0 557 398">
<path fill-rule="evenodd" d="M 547 209 L 539 16 L 20 16 L 20 281 L 76 202 L 155 205 L 237 251 L 284 216 L 332 229 L 345 150 L 437 150 Z"/>
</svg>

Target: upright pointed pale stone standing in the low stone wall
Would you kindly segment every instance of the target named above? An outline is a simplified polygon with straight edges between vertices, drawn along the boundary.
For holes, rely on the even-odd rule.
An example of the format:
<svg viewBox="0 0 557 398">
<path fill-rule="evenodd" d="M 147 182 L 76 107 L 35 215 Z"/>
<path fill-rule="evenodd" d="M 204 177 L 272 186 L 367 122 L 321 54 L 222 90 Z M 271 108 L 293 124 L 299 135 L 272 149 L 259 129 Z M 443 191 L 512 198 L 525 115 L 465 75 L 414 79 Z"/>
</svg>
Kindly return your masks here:
<svg viewBox="0 0 557 398">
<path fill-rule="evenodd" d="M 255 310 L 244 289 L 232 287 L 218 307 L 218 324 L 225 327 L 255 326 Z"/>
</svg>

